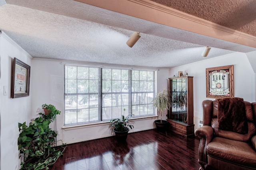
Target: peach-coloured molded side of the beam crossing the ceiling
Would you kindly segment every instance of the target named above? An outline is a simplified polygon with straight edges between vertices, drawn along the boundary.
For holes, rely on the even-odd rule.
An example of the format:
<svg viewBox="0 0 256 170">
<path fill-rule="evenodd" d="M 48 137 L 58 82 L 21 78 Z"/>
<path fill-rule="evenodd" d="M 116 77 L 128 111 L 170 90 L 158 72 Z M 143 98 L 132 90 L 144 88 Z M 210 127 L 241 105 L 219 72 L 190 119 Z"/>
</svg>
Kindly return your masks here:
<svg viewBox="0 0 256 170">
<path fill-rule="evenodd" d="M 150 0 L 75 0 L 172 28 L 256 48 L 256 37 Z M 200 41 L 200 40 L 199 40 Z"/>
</svg>

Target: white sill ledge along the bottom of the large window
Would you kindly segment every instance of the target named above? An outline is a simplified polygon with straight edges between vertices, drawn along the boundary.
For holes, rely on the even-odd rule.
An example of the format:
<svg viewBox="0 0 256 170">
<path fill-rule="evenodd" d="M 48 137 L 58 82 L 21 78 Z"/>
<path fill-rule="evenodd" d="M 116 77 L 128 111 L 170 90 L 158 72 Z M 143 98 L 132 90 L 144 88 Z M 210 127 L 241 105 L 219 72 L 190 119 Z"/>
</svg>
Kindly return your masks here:
<svg viewBox="0 0 256 170">
<path fill-rule="evenodd" d="M 158 117 L 158 115 L 148 116 L 148 117 L 130 118 L 129 120 L 139 121 L 139 120 L 154 119 L 155 117 Z M 74 130 L 74 129 L 83 129 L 83 128 L 96 127 L 96 126 L 107 125 L 107 124 L 110 124 L 110 122 L 109 121 L 102 121 L 102 122 L 88 123 L 88 124 L 82 124 L 82 125 L 63 126 L 62 129 L 65 130 L 65 131 L 70 131 L 70 130 Z"/>
</svg>

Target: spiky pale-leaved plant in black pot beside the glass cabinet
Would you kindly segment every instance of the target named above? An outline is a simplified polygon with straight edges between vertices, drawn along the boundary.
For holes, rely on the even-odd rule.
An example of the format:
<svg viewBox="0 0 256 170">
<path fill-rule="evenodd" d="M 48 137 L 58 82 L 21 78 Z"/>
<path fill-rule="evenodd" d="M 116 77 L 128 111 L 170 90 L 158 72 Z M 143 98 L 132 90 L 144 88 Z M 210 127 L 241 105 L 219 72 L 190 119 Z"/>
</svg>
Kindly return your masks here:
<svg viewBox="0 0 256 170">
<path fill-rule="evenodd" d="M 153 107 L 157 109 L 158 116 L 160 118 L 160 120 L 154 121 L 156 123 L 156 128 L 158 130 L 164 130 L 168 122 L 166 120 L 162 120 L 162 117 L 166 116 L 167 110 L 172 108 L 169 90 L 164 88 L 162 91 L 158 92 L 152 102 Z"/>
</svg>

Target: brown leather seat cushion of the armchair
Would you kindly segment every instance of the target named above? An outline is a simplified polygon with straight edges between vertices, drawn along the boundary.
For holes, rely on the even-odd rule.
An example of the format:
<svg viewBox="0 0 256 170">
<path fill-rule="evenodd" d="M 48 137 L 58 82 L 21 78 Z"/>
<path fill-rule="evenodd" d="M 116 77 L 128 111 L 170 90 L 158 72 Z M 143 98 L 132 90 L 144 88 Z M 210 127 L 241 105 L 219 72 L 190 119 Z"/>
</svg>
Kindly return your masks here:
<svg viewBox="0 0 256 170">
<path fill-rule="evenodd" d="M 249 143 L 214 137 L 207 145 L 208 156 L 246 167 L 256 167 L 256 154 Z"/>
</svg>

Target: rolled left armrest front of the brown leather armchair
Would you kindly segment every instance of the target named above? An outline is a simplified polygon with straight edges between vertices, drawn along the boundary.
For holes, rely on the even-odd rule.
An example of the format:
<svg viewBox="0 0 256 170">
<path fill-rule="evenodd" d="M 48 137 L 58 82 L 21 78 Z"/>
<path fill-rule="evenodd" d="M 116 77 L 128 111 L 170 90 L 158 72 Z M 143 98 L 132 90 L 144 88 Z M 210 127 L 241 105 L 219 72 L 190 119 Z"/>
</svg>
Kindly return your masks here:
<svg viewBox="0 0 256 170">
<path fill-rule="evenodd" d="M 206 146 L 208 143 L 210 143 L 210 141 L 212 141 L 213 128 L 208 125 L 204 125 L 196 129 L 195 135 L 200 139 L 200 144 L 198 148 L 198 154 L 199 154 L 198 162 L 202 166 L 201 168 L 204 169 L 204 165 L 208 163 Z"/>
</svg>

